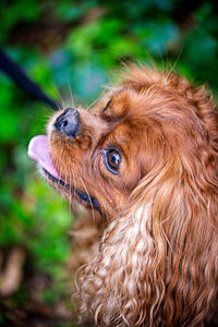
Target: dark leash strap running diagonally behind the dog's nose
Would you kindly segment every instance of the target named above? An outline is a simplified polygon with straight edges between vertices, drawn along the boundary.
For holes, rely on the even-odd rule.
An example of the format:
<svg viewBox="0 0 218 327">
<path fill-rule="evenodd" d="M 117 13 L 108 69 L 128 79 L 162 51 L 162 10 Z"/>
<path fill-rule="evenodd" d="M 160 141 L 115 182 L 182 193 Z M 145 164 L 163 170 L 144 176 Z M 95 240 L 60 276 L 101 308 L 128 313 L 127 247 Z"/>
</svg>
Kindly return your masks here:
<svg viewBox="0 0 218 327">
<path fill-rule="evenodd" d="M 38 84 L 33 82 L 24 72 L 24 70 L 13 61 L 9 55 L 0 50 L 0 70 L 8 75 L 14 83 L 21 87 L 26 94 L 48 105 L 51 109 L 58 110 L 59 105 L 49 98 Z"/>
</svg>

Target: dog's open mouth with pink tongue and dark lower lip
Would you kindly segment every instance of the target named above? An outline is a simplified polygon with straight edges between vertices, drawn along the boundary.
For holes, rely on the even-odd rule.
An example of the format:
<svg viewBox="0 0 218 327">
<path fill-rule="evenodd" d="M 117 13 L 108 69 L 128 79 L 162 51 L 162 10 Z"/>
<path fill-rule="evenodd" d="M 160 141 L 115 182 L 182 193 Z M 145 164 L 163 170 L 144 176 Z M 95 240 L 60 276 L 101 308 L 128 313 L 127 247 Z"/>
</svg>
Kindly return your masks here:
<svg viewBox="0 0 218 327">
<path fill-rule="evenodd" d="M 72 187 L 71 184 L 60 177 L 51 160 L 48 137 L 46 135 L 37 135 L 31 140 L 28 145 L 28 157 L 38 162 L 39 170 L 43 175 L 60 191 L 64 192 L 65 194 L 76 194 L 80 202 L 88 204 L 95 208 L 100 208 L 100 205 L 96 198 L 75 187 Z"/>
</svg>

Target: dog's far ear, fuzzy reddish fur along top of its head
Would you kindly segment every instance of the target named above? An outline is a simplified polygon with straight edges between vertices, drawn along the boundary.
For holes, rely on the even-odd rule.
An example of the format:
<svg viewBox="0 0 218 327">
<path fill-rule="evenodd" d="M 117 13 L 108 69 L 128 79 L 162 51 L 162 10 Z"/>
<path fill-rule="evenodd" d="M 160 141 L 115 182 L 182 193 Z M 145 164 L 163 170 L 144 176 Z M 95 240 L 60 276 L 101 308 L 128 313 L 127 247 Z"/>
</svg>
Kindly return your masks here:
<svg viewBox="0 0 218 327">
<path fill-rule="evenodd" d="M 177 74 L 166 73 L 157 70 L 157 68 L 135 64 L 125 68 L 123 85 L 131 86 L 140 92 L 156 85 L 170 90 L 177 97 L 182 96 L 193 109 L 195 108 L 197 116 L 204 122 L 205 130 L 209 133 L 211 142 L 216 140 L 214 146 L 218 150 L 218 110 L 207 85 L 193 86 L 186 78 Z"/>
</svg>

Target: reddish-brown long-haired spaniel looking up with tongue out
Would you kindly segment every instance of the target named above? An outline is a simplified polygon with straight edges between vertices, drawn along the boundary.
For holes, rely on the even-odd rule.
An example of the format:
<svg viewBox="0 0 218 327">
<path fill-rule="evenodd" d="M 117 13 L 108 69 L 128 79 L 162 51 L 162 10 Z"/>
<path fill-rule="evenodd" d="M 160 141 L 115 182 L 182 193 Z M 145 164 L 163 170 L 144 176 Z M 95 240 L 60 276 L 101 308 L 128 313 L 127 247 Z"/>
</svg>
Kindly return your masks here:
<svg viewBox="0 0 218 327">
<path fill-rule="evenodd" d="M 104 220 L 80 277 L 97 326 L 218 326 L 218 111 L 205 86 L 131 65 L 90 110 L 55 113 L 28 155 Z"/>
</svg>

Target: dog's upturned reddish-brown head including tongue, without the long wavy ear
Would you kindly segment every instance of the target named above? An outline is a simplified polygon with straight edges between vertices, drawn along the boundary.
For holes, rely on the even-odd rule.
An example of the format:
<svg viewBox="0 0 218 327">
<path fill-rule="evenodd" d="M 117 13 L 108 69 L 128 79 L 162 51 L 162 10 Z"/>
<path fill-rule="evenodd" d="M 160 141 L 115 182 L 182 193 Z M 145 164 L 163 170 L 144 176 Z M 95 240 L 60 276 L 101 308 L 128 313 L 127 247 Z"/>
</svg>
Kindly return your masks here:
<svg viewBox="0 0 218 327">
<path fill-rule="evenodd" d="M 38 136 L 31 156 L 66 197 L 112 217 L 130 202 L 136 185 L 172 154 L 193 156 L 204 130 L 192 98 L 184 96 L 187 88 L 185 80 L 168 81 L 164 73 L 135 68 L 89 111 L 57 112 L 48 123 L 48 141 Z M 189 137 L 192 142 L 184 146 Z"/>
</svg>

